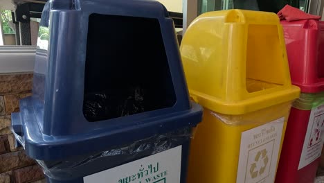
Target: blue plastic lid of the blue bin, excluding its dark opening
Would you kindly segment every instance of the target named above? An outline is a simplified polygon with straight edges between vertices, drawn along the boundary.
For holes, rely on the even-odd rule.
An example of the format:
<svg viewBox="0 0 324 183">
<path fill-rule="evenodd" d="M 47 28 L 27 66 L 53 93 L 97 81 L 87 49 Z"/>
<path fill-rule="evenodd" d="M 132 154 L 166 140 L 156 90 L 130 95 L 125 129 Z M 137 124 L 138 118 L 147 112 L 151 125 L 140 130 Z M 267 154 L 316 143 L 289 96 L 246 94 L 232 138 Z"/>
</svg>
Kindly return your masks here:
<svg viewBox="0 0 324 183">
<path fill-rule="evenodd" d="M 93 123 L 84 118 L 84 67 L 88 17 L 92 13 L 159 20 L 177 98 L 173 107 Z M 48 25 L 48 48 L 37 49 L 33 96 L 22 99 L 20 112 L 12 114 L 12 129 L 22 137 L 30 157 L 53 161 L 89 155 L 156 134 L 195 127 L 201 121 L 201 107 L 189 101 L 173 21 L 161 3 L 51 1 L 41 21 L 44 28 Z"/>
</svg>

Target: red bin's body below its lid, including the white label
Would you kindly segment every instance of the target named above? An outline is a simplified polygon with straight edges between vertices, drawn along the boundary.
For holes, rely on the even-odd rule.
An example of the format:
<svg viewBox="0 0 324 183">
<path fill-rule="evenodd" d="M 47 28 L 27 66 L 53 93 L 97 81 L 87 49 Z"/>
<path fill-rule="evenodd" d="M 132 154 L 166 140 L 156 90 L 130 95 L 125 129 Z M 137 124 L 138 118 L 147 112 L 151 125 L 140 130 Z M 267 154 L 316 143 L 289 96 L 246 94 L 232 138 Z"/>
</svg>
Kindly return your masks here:
<svg viewBox="0 0 324 183">
<path fill-rule="evenodd" d="M 293 104 L 276 182 L 314 182 L 323 148 L 323 107 L 323 92 L 301 94 Z"/>
</svg>

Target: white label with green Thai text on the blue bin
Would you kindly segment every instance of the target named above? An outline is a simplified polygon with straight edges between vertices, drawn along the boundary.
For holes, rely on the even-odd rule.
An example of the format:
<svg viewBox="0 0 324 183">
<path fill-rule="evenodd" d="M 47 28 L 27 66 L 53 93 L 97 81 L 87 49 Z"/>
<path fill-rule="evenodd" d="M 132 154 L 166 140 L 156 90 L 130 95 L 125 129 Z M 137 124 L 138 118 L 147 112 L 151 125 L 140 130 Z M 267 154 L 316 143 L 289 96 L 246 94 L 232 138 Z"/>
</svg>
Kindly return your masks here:
<svg viewBox="0 0 324 183">
<path fill-rule="evenodd" d="M 182 146 L 83 177 L 84 183 L 179 183 Z"/>
</svg>

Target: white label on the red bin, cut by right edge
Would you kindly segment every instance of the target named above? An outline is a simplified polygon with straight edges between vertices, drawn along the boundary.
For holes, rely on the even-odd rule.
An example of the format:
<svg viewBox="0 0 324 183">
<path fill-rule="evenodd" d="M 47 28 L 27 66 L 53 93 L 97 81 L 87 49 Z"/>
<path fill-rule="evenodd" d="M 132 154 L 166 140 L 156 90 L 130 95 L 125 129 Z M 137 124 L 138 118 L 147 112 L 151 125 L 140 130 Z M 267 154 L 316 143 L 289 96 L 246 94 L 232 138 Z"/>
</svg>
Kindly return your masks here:
<svg viewBox="0 0 324 183">
<path fill-rule="evenodd" d="M 312 109 L 309 116 L 303 151 L 298 170 L 314 162 L 321 156 L 324 132 L 324 105 Z"/>
</svg>

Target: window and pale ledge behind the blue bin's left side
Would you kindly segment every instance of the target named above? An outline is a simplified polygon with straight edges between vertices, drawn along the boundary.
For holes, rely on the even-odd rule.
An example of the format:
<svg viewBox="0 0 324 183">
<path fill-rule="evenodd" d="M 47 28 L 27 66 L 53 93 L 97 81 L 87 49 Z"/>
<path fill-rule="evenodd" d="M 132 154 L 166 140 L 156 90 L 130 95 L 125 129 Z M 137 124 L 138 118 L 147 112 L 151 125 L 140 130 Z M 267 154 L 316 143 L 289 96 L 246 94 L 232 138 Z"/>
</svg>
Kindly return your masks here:
<svg viewBox="0 0 324 183">
<path fill-rule="evenodd" d="M 0 3 L 0 73 L 34 71 L 39 18 L 46 0 L 15 2 Z"/>
</svg>

